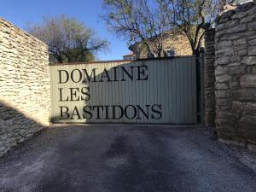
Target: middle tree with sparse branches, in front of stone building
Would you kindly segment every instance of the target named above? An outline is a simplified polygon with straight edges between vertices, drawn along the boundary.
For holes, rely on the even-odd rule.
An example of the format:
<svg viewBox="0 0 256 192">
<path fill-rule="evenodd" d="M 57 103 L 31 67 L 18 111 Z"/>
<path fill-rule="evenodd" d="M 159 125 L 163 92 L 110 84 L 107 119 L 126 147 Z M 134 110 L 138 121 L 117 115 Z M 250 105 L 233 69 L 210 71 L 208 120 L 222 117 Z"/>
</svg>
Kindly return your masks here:
<svg viewBox="0 0 256 192">
<path fill-rule="evenodd" d="M 102 18 L 112 32 L 129 44 L 143 43 L 150 57 L 166 55 L 163 34 L 170 26 L 157 3 L 149 6 L 147 0 L 104 0 L 103 9 Z"/>
</svg>

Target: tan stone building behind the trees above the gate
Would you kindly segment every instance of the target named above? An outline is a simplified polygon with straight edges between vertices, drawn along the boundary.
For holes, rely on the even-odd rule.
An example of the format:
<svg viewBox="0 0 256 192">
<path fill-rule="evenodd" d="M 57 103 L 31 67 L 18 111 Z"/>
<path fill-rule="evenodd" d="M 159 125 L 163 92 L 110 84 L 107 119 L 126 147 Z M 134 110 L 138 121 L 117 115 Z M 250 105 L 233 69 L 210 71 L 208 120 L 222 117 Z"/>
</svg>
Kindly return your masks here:
<svg viewBox="0 0 256 192">
<path fill-rule="evenodd" d="M 189 39 L 183 32 L 169 30 L 163 34 L 163 39 L 164 49 L 166 50 L 168 56 L 192 55 Z M 155 39 L 150 40 L 152 44 L 154 41 Z M 148 58 L 148 50 L 142 42 L 131 45 L 129 49 L 132 52 L 129 55 L 123 55 L 124 60 Z"/>
</svg>

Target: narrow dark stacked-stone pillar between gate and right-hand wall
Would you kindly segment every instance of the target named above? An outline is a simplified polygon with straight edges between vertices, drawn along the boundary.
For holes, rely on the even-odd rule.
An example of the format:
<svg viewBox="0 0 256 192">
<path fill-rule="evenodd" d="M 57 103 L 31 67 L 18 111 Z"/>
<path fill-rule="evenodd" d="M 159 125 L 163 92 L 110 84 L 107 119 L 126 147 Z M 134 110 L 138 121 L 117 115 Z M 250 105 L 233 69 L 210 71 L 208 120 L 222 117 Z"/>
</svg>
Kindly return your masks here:
<svg viewBox="0 0 256 192">
<path fill-rule="evenodd" d="M 215 48 L 214 48 L 215 29 L 208 29 L 205 32 L 205 67 L 204 67 L 204 84 L 205 84 L 205 124 L 214 126 L 216 102 L 215 102 Z"/>
</svg>

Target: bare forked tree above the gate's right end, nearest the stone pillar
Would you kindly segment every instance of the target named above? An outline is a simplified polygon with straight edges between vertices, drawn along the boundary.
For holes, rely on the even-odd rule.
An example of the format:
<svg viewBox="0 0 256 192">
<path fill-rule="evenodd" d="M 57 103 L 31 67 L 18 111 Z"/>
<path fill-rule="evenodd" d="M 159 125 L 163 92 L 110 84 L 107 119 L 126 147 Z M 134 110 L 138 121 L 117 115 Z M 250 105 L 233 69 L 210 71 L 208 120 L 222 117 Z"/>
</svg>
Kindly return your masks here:
<svg viewBox="0 0 256 192">
<path fill-rule="evenodd" d="M 194 55 L 199 54 L 204 30 L 212 26 L 218 14 L 216 0 L 158 0 L 168 15 L 170 25 L 177 26 L 189 39 Z"/>
</svg>

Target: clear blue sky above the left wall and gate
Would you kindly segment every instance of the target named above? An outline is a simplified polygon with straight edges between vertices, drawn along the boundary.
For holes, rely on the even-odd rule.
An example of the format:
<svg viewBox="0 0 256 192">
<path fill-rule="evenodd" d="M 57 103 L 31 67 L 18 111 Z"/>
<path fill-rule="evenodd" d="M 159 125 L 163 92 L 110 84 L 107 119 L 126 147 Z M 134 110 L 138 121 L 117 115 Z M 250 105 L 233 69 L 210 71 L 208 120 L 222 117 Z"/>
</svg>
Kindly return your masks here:
<svg viewBox="0 0 256 192">
<path fill-rule="evenodd" d="M 38 23 L 42 16 L 67 15 L 94 28 L 96 35 L 110 43 L 109 51 L 96 55 L 98 60 L 119 60 L 130 53 L 126 42 L 108 32 L 102 15 L 102 0 L 0 0 L 0 17 L 25 29 L 27 23 Z"/>
</svg>

